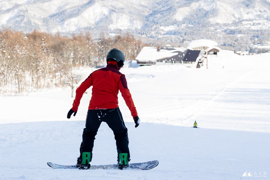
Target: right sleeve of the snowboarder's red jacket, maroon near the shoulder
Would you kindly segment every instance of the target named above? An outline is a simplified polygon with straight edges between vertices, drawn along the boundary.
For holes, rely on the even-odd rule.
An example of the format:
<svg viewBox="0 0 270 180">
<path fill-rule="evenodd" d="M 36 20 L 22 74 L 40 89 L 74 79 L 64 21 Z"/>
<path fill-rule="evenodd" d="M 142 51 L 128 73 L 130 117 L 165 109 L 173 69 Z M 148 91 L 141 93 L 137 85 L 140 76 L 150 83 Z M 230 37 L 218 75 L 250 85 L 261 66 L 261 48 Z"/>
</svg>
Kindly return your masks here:
<svg viewBox="0 0 270 180">
<path fill-rule="evenodd" d="M 120 80 L 118 82 L 118 87 L 119 87 L 119 90 L 122 94 L 122 97 L 124 98 L 130 112 L 131 112 L 131 116 L 132 117 L 136 117 L 138 116 L 137 114 L 137 110 L 136 110 L 136 107 L 134 105 L 134 102 L 132 100 L 132 97 L 131 97 L 131 94 L 130 94 L 130 91 L 128 89 L 128 84 L 127 84 L 127 80 L 126 80 L 126 77 L 124 74 L 122 74 L 120 76 Z"/>
</svg>

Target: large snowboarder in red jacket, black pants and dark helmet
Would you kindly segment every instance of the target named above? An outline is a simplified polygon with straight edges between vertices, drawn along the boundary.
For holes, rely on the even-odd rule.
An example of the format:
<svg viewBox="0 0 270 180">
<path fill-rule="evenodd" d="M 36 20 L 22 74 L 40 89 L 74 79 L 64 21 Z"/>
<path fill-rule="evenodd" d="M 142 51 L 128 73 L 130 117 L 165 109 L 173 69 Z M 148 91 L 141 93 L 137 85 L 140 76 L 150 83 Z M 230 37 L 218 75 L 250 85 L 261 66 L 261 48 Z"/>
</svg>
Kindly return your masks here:
<svg viewBox="0 0 270 180">
<path fill-rule="evenodd" d="M 131 98 L 125 75 L 119 72 L 124 62 L 125 56 L 123 52 L 118 49 L 111 49 L 107 54 L 107 67 L 92 72 L 76 89 L 73 106 L 67 113 L 68 119 L 70 119 L 73 113 L 73 116 L 76 115 L 83 93 L 90 86 L 93 86 L 85 128 L 82 133 L 80 156 L 77 159 L 77 167 L 80 169 L 90 168 L 89 163 L 92 159 L 94 140 L 101 122 L 106 122 L 113 130 L 119 169 L 128 167 L 128 162 L 130 161 L 128 129 L 125 126 L 118 106 L 119 90 L 131 111 L 131 116 L 136 124 L 135 128 L 139 126 L 140 118 Z"/>
</svg>

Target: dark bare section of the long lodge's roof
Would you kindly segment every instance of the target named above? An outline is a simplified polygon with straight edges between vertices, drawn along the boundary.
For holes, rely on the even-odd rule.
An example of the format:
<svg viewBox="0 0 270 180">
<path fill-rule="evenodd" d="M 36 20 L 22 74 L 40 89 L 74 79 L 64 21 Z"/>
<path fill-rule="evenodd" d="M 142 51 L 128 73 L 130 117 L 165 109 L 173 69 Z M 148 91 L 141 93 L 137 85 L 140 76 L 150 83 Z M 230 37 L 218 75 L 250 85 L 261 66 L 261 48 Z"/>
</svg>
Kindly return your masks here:
<svg viewBox="0 0 270 180">
<path fill-rule="evenodd" d="M 178 53 L 177 55 L 173 55 L 169 58 L 162 58 L 159 60 L 175 60 L 175 61 L 196 61 L 197 57 L 199 56 L 200 51 L 199 50 L 190 50 L 187 49 L 184 52 L 181 51 L 174 51 L 173 53 Z"/>
</svg>

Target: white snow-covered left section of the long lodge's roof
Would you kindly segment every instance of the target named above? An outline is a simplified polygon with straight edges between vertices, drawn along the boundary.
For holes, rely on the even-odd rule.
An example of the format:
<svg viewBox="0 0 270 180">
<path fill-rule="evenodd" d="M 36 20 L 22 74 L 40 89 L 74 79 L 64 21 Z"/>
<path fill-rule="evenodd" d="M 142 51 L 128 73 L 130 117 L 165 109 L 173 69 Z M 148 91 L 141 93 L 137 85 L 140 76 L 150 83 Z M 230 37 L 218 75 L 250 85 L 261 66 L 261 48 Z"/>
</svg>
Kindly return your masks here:
<svg viewBox="0 0 270 180">
<path fill-rule="evenodd" d="M 138 61 L 148 62 L 155 61 L 163 58 L 170 58 L 174 55 L 178 55 L 178 52 L 185 52 L 186 48 L 174 47 L 174 48 L 162 48 L 157 51 L 157 47 L 145 46 L 135 58 Z"/>
</svg>

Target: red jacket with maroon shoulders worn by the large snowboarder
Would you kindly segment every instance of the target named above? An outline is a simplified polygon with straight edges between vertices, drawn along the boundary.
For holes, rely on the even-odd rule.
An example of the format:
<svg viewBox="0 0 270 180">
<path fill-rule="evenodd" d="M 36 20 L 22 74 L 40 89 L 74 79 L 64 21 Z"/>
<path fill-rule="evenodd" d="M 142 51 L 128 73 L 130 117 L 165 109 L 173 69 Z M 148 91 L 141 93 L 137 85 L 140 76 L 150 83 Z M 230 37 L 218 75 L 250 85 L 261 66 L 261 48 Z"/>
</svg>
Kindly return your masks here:
<svg viewBox="0 0 270 180">
<path fill-rule="evenodd" d="M 73 101 L 73 107 L 71 108 L 74 112 L 78 110 L 83 93 L 91 85 L 93 86 L 92 97 L 88 110 L 113 109 L 119 107 L 118 93 L 120 90 L 122 97 L 131 111 L 131 116 L 138 116 L 128 89 L 127 80 L 125 75 L 119 72 L 116 61 L 109 61 L 107 67 L 91 73 L 76 89 L 76 97 Z"/>
</svg>

